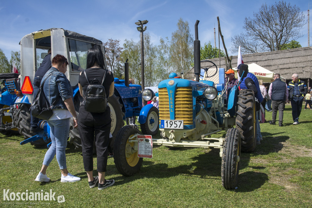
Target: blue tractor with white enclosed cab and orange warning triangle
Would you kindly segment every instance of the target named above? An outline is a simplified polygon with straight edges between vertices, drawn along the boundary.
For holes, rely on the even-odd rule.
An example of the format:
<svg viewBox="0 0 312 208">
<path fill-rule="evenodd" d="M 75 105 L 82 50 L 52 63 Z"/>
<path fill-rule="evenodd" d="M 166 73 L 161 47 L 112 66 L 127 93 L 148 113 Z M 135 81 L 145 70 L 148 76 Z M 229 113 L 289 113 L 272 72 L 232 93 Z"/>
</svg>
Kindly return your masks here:
<svg viewBox="0 0 312 208">
<path fill-rule="evenodd" d="M 79 93 L 78 77 L 81 71 L 86 68 L 86 55 L 89 48 L 95 44 L 102 45 L 100 40 L 93 37 L 81 35 L 73 31 L 67 31 L 61 28 L 51 28 L 33 32 L 22 38 L 21 42 L 21 83 L 20 96 L 15 101 L 14 121 L 20 133 L 24 135 L 25 140 L 21 144 L 30 142 L 31 144 L 42 147 L 50 142 L 49 127 L 45 121 L 38 123 L 42 128 L 41 132 L 30 133 L 30 106 L 34 98 L 32 80 L 47 50 L 51 48 L 52 56 L 61 54 L 70 61 L 65 73 L 70 80 L 73 94 L 74 105 L 78 115 L 80 104 L 83 101 Z M 102 47 L 105 53 L 105 48 Z M 105 62 L 105 68 L 107 65 Z M 145 106 L 142 108 L 142 92 L 140 85 L 128 84 L 128 63 L 125 64 L 125 80 L 115 78 L 114 94 L 108 100 L 111 109 L 111 130 L 110 133 L 115 138 L 118 130 L 124 126 L 124 120 L 128 117 L 141 115 L 140 124 L 142 130 L 146 133 L 155 134 L 158 132 L 158 112 L 155 109 Z M 148 109 L 146 111 L 146 109 Z M 152 110 L 151 110 L 152 109 Z M 143 112 L 141 112 L 143 110 Z M 153 111 L 154 110 L 154 111 Z M 150 116 L 152 114 L 152 116 Z M 155 116 L 157 114 L 157 116 Z M 70 140 L 76 148 L 81 148 L 81 140 L 78 130 L 73 128 L 71 120 Z M 156 127 L 155 127 L 156 126 Z M 143 130 L 143 131 L 144 131 Z M 114 139 L 111 142 L 113 145 Z"/>
</svg>

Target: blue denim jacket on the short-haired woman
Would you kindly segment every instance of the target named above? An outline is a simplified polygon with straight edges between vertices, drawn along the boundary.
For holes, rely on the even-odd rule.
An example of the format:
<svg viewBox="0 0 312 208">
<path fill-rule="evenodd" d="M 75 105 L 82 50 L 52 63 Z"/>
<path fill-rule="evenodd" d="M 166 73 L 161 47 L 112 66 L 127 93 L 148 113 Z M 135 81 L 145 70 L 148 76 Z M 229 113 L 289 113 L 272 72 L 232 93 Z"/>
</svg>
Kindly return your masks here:
<svg viewBox="0 0 312 208">
<path fill-rule="evenodd" d="M 64 104 L 64 100 L 68 98 L 73 99 L 73 90 L 71 88 L 71 83 L 66 78 L 65 74 L 63 74 L 56 68 L 51 67 L 51 69 L 49 69 L 43 76 L 41 84 L 43 80 L 45 80 L 46 77 L 50 74 L 51 76 L 47 78 L 43 86 L 43 90 L 46 98 L 50 103 L 51 109 L 67 109 Z M 58 99 L 58 101 L 54 105 L 52 105 L 53 102 L 56 101 L 56 99 Z"/>
</svg>

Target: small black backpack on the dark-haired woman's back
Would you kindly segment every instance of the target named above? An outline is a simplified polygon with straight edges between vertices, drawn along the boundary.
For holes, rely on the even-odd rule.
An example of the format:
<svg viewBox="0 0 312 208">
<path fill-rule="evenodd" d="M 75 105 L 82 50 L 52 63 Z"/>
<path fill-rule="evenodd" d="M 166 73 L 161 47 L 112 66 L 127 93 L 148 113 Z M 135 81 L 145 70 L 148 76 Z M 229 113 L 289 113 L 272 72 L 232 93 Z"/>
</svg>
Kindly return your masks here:
<svg viewBox="0 0 312 208">
<path fill-rule="evenodd" d="M 83 71 L 85 73 L 85 70 Z M 105 70 L 104 77 L 101 84 L 91 84 L 88 80 L 87 74 L 85 73 L 85 78 L 87 79 L 89 85 L 85 90 L 84 99 L 85 99 L 85 110 L 92 113 L 103 113 L 106 110 L 107 99 L 105 88 L 103 82 L 107 70 Z M 93 80 L 94 81 L 94 80 Z M 93 82 L 92 81 L 92 82 Z"/>
</svg>

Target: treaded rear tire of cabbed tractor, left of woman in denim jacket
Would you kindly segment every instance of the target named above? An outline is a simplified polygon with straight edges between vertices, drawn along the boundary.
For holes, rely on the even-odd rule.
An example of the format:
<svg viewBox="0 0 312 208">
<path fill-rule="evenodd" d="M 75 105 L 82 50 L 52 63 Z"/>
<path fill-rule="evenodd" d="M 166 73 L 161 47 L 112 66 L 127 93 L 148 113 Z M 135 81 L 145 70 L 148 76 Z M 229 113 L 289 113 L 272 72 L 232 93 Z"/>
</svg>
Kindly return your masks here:
<svg viewBox="0 0 312 208">
<path fill-rule="evenodd" d="M 14 109 L 13 120 L 19 133 L 24 136 L 24 139 L 28 139 L 37 135 L 37 133 L 30 133 L 31 119 L 30 119 L 30 105 L 29 104 L 18 104 L 18 108 L 16 107 Z M 51 142 L 51 139 L 49 142 L 45 142 L 41 138 L 41 139 L 31 142 L 30 144 L 34 145 L 35 147 L 46 147 L 46 145 L 50 142 Z"/>
</svg>

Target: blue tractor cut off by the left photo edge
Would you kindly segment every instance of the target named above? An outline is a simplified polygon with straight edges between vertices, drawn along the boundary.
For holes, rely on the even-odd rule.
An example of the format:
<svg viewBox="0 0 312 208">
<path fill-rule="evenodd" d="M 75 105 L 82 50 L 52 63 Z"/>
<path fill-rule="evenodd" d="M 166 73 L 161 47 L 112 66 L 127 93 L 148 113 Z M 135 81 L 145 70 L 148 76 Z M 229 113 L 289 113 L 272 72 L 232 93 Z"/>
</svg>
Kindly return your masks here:
<svg viewBox="0 0 312 208">
<path fill-rule="evenodd" d="M 14 89 L 19 87 L 19 74 L 0 74 L 0 133 L 10 136 L 18 133 L 13 123 L 14 101 L 16 94 Z"/>
</svg>

